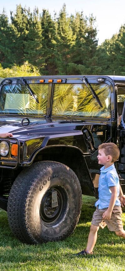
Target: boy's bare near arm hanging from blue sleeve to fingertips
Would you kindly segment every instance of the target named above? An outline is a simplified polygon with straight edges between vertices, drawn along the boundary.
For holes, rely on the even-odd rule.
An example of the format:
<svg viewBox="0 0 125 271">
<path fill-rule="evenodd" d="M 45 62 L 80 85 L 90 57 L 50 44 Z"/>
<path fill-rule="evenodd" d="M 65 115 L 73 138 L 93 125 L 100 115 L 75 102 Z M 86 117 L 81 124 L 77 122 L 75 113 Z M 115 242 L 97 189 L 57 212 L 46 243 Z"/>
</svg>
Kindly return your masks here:
<svg viewBox="0 0 125 271">
<path fill-rule="evenodd" d="M 108 209 L 103 213 L 103 219 L 107 219 L 107 220 L 111 218 L 113 207 L 114 207 L 114 204 L 115 204 L 116 198 L 117 198 L 117 187 L 112 186 L 112 187 L 109 187 L 109 188 L 110 188 L 110 190 L 112 192 L 112 195 L 111 195 L 111 199 L 110 199 L 110 202 L 109 202 Z"/>
</svg>

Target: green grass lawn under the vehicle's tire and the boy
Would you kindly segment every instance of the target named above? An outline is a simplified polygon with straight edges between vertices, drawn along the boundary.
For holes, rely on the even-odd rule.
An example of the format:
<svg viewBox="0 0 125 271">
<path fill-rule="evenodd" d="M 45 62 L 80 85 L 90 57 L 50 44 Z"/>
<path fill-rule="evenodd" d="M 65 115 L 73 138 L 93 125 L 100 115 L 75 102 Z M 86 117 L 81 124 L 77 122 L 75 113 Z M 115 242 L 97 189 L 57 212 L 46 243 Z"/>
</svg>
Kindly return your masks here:
<svg viewBox="0 0 125 271">
<path fill-rule="evenodd" d="M 99 229 L 93 255 L 73 256 L 86 247 L 94 203 L 94 197 L 83 196 L 81 217 L 74 233 L 64 241 L 41 245 L 26 245 L 15 238 L 8 226 L 7 213 L 0 209 L 0 271 L 124 271 L 125 240 L 107 228 Z M 125 224 L 125 213 L 122 217 Z"/>
</svg>

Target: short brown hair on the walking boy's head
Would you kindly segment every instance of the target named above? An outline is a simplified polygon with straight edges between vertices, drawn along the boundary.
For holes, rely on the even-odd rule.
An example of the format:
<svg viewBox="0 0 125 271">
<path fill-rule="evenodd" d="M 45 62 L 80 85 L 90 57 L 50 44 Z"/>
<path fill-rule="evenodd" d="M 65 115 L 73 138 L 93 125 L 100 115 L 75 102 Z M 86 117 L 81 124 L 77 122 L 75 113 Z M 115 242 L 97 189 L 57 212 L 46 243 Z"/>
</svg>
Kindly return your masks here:
<svg viewBox="0 0 125 271">
<path fill-rule="evenodd" d="M 118 146 L 114 144 L 113 142 L 110 143 L 103 143 L 98 146 L 98 150 L 104 149 L 105 155 L 111 155 L 112 156 L 112 162 L 115 162 L 120 154 L 120 151 L 118 149 Z"/>
</svg>

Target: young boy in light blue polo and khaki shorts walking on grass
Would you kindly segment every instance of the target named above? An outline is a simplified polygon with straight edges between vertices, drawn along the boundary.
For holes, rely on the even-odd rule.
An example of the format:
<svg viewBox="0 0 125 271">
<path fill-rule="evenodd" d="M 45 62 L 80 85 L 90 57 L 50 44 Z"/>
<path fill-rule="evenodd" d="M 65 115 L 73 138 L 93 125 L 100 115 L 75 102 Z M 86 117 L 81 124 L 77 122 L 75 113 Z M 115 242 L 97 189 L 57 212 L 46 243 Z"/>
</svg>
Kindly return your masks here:
<svg viewBox="0 0 125 271">
<path fill-rule="evenodd" d="M 104 228 L 107 225 L 110 231 L 125 238 L 121 219 L 121 203 L 118 199 L 119 178 L 114 166 L 118 157 L 119 149 L 114 143 L 103 143 L 98 147 L 98 164 L 104 165 L 100 169 L 99 199 L 95 203 L 96 211 L 93 213 L 87 248 L 75 254 L 76 256 L 93 254 L 99 227 Z"/>
</svg>

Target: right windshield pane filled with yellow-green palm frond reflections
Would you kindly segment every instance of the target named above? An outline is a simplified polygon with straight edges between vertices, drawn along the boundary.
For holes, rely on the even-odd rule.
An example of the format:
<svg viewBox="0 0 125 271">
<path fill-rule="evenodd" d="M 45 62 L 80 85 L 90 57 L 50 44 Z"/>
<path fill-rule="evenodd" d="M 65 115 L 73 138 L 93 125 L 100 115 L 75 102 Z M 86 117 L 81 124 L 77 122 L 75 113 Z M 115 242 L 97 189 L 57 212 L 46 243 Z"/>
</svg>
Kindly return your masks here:
<svg viewBox="0 0 125 271">
<path fill-rule="evenodd" d="M 55 84 L 53 97 L 54 116 L 111 116 L 111 89 L 107 84 L 91 84 L 102 107 L 85 84 Z"/>
</svg>

